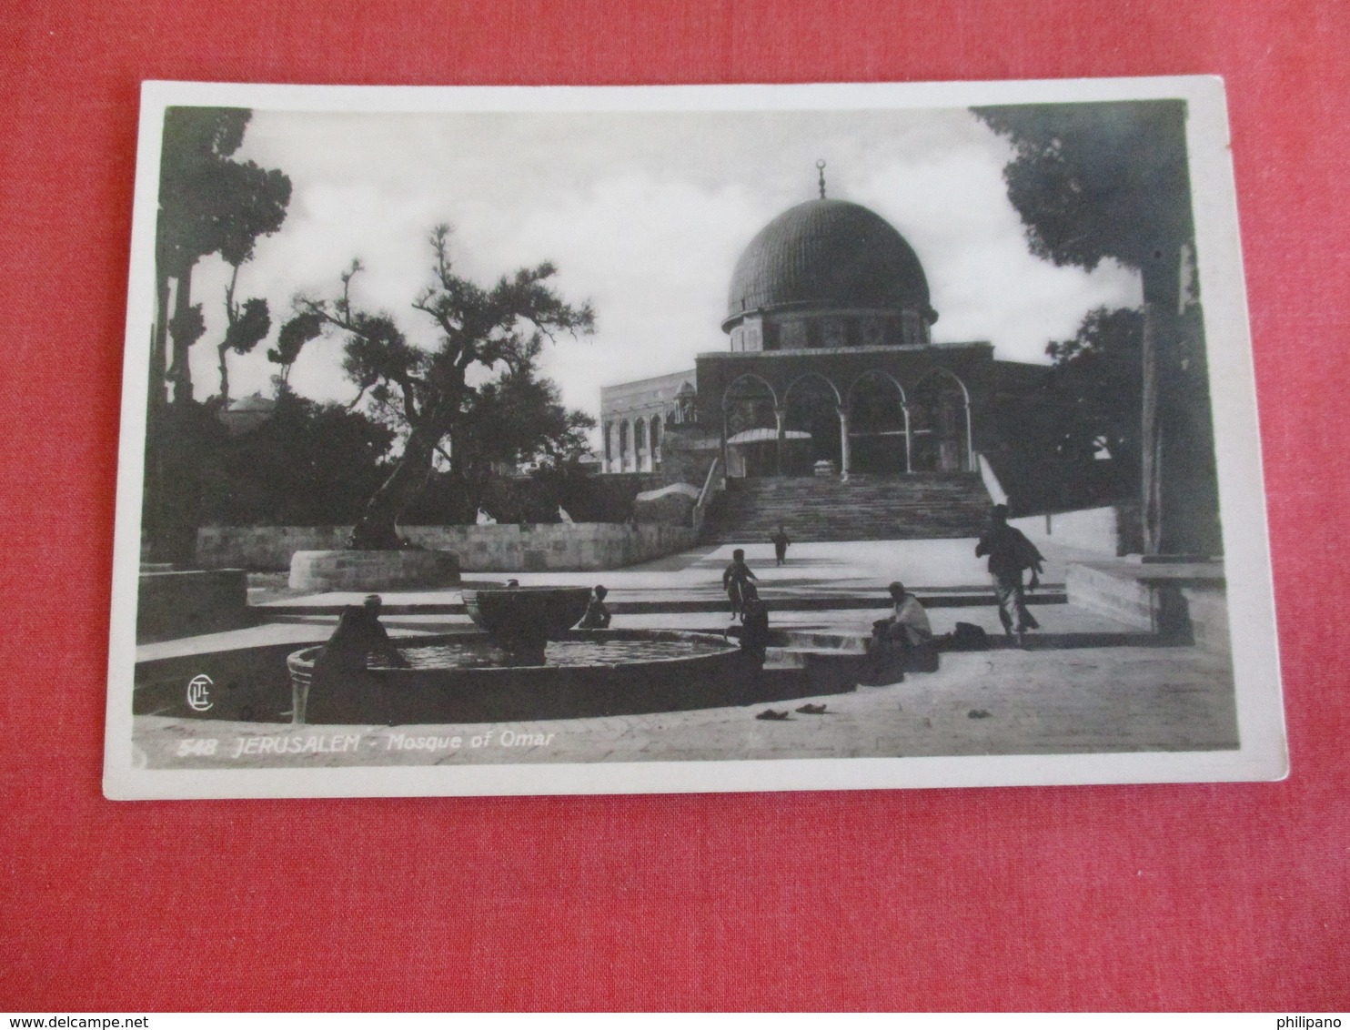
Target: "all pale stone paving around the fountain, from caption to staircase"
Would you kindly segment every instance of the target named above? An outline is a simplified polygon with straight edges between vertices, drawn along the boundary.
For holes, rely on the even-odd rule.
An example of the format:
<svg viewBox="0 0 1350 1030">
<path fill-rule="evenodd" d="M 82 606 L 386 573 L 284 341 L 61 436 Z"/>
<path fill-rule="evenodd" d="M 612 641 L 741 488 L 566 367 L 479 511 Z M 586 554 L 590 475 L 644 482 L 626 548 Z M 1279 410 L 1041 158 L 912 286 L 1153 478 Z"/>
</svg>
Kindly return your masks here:
<svg viewBox="0 0 1350 1030">
<path fill-rule="evenodd" d="M 1050 558 L 1045 579 L 1062 582 L 1065 562 L 1079 555 L 1045 549 Z M 896 578 L 921 591 L 990 591 L 983 562 L 975 559 L 969 540 L 798 544 L 783 568 L 774 567 L 767 543 L 747 547 L 747 552 L 770 598 L 772 625 L 779 629 L 865 634 L 871 621 L 886 612 L 886 583 Z M 616 616 L 616 628 L 720 632 L 729 621 L 721 607 L 721 571 L 728 560 L 729 547 L 701 548 L 587 578 L 603 579 L 612 589 L 610 599 L 628 593 L 707 602 L 698 612 Z M 518 578 L 531 585 L 575 583 L 580 576 L 544 572 Z M 794 597 L 860 594 L 875 597 L 876 607 L 791 610 Z M 385 593 L 386 603 L 406 606 L 406 614 L 382 621 L 396 636 L 468 629 L 462 614 L 418 612 L 424 605 L 444 607 L 454 595 Z M 327 612 L 352 599 L 306 598 L 320 614 L 281 618 L 278 613 L 250 629 L 146 644 L 138 648 L 138 660 L 319 643 L 332 632 L 335 613 Z M 259 606 L 259 612 L 266 610 L 266 605 Z M 1017 649 L 1003 647 L 992 597 L 986 606 L 932 607 L 934 632 L 949 632 L 957 621 L 975 622 L 996 637 L 998 647 L 944 655 L 937 672 L 910 674 L 890 687 L 859 687 L 856 693 L 772 706 L 404 728 L 292 728 L 138 715 L 134 741 L 140 760 L 159 768 L 1064 755 L 1237 747 L 1227 653 L 1161 647 L 1148 634 L 1071 605 L 1041 605 L 1035 613 L 1042 630 L 1030 634 L 1026 649 Z M 825 714 L 795 711 L 807 702 L 825 705 Z M 790 718 L 756 720 L 765 707 L 787 709 Z M 217 741 L 211 755 L 201 744 L 207 740 Z"/>
</svg>

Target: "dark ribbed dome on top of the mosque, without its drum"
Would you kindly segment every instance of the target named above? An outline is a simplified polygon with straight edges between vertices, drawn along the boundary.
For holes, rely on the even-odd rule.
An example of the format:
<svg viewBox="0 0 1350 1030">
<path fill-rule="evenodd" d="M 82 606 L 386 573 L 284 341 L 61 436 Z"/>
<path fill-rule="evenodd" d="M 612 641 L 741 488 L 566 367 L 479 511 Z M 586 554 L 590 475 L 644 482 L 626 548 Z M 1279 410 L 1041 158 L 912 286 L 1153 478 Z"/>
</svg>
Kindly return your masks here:
<svg viewBox="0 0 1350 1030">
<path fill-rule="evenodd" d="M 886 219 L 846 200 L 809 200 L 745 247 L 722 328 L 756 310 L 859 308 L 937 320 L 918 255 Z"/>
</svg>

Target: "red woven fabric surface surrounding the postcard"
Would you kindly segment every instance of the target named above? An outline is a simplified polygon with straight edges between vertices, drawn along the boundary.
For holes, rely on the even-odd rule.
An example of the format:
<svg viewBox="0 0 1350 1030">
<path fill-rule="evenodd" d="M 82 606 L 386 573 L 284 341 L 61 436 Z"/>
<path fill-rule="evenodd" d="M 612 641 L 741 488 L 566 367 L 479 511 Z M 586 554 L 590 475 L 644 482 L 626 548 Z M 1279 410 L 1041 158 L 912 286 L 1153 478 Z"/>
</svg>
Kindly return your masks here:
<svg viewBox="0 0 1350 1030">
<path fill-rule="evenodd" d="M 0 1008 L 1350 1006 L 1350 7 L 5 4 Z M 112 803 L 143 78 L 1228 84 L 1285 783 Z"/>
</svg>

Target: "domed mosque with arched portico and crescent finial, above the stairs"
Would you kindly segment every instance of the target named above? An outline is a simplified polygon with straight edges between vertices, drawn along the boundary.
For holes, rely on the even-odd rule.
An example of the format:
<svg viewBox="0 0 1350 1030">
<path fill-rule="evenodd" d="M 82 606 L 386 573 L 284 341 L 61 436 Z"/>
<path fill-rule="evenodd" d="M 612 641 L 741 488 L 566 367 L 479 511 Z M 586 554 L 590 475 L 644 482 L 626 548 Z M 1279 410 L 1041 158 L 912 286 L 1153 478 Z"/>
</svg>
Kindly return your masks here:
<svg viewBox="0 0 1350 1030">
<path fill-rule="evenodd" d="M 819 197 L 770 221 L 736 262 L 729 350 L 602 390 L 605 471 L 662 471 L 678 436 L 720 452 L 730 481 L 979 481 L 977 455 L 999 448 L 1000 398 L 1021 406 L 1044 366 L 995 360 L 984 342 L 933 343 L 914 248 L 875 211 L 826 197 L 817 167 Z"/>
</svg>

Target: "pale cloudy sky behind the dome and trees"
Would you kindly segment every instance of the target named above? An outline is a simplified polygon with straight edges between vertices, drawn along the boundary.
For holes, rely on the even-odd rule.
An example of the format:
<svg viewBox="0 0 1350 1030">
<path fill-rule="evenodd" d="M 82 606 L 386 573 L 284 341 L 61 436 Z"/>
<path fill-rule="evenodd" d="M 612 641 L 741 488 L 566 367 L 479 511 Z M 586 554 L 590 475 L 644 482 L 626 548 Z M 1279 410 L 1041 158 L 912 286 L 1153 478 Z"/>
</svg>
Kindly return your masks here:
<svg viewBox="0 0 1350 1030">
<path fill-rule="evenodd" d="M 741 251 L 771 219 L 818 194 L 856 201 L 910 242 L 927 274 L 940 343 L 987 340 L 995 356 L 1045 362 L 1099 306 L 1141 302 L 1138 275 L 1092 273 L 1030 254 L 1004 192 L 1008 144 L 965 109 L 595 113 L 315 113 L 258 111 L 236 159 L 284 170 L 281 231 L 259 240 L 238 297 L 265 297 L 269 339 L 230 355 L 231 396 L 271 393 L 266 360 L 297 293 L 332 297 L 359 258 L 354 300 L 393 313 L 414 343 L 431 321 L 410 306 L 428 282 L 427 236 L 454 235 L 455 270 L 487 286 L 543 261 L 555 289 L 590 301 L 593 335 L 559 336 L 541 362 L 564 402 L 599 413 L 599 387 L 693 369 L 728 348 L 720 324 Z M 196 396 L 219 391 L 228 269 L 198 263 Z M 350 401 L 340 340 L 306 346 L 290 383 Z"/>
</svg>

